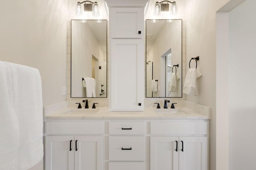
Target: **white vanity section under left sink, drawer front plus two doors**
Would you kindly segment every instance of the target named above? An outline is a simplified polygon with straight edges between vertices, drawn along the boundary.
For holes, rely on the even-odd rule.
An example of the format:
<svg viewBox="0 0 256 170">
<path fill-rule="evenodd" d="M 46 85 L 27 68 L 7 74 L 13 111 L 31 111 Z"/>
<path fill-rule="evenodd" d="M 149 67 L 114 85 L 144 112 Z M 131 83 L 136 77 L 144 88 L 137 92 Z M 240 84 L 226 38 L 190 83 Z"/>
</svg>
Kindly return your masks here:
<svg viewBox="0 0 256 170">
<path fill-rule="evenodd" d="M 46 121 L 45 170 L 103 170 L 101 121 Z"/>
</svg>

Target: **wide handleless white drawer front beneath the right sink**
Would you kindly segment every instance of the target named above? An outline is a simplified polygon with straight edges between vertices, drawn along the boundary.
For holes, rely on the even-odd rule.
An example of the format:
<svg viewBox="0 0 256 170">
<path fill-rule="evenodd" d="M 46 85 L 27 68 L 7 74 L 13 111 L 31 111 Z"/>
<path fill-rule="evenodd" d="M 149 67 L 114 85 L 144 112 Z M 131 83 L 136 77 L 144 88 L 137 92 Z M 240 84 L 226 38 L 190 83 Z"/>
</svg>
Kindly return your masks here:
<svg viewBox="0 0 256 170">
<path fill-rule="evenodd" d="M 207 122 L 151 122 L 151 135 L 207 135 Z"/>
</svg>

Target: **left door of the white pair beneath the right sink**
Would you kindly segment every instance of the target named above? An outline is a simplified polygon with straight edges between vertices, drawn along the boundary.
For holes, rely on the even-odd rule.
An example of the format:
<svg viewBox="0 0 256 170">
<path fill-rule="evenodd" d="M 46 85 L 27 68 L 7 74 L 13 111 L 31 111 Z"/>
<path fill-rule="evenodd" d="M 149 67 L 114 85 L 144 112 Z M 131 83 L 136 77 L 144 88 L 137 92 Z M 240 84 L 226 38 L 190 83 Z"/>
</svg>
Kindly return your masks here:
<svg viewBox="0 0 256 170">
<path fill-rule="evenodd" d="M 150 137 L 150 170 L 178 170 L 178 140 L 178 137 Z"/>
</svg>

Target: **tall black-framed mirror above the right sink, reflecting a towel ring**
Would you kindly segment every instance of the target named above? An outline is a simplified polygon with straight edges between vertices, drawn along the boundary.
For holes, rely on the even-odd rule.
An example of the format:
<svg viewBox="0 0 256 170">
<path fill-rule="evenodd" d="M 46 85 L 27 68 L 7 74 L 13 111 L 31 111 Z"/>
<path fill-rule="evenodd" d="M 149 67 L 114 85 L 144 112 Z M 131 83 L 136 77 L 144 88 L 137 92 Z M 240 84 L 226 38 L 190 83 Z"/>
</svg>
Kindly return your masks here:
<svg viewBox="0 0 256 170">
<path fill-rule="evenodd" d="M 146 98 L 182 98 L 182 20 L 146 20 Z"/>
</svg>

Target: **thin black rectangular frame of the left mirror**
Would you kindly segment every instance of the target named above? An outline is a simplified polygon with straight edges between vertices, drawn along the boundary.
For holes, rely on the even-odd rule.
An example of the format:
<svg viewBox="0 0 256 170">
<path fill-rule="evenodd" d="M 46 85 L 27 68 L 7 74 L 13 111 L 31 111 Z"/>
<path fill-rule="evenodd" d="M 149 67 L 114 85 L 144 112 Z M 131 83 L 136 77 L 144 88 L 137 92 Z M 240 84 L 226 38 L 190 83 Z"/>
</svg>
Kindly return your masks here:
<svg viewBox="0 0 256 170">
<path fill-rule="evenodd" d="M 88 98 L 88 97 L 72 97 L 72 21 L 81 21 L 81 20 L 70 20 L 70 98 Z M 87 21 L 96 21 L 96 20 L 87 20 Z M 106 21 L 106 97 L 95 97 L 95 98 L 108 98 L 108 20 Z M 93 97 L 92 97 L 93 98 Z M 90 99 L 92 99 L 90 98 Z"/>
</svg>

